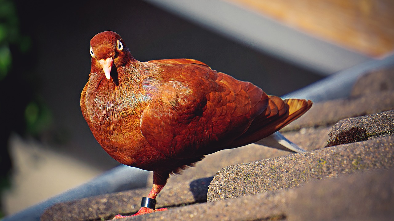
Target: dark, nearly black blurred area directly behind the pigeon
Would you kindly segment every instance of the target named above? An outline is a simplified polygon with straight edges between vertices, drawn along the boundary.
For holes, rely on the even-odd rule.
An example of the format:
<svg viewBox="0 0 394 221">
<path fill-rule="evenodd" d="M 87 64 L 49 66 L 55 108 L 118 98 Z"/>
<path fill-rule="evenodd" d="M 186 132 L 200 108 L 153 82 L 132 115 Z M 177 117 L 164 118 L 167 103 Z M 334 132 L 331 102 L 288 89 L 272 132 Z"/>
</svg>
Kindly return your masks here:
<svg viewBox="0 0 394 221">
<path fill-rule="evenodd" d="M 272 95 L 281 96 L 322 78 L 142 0 L 15 0 L 14 4 L 20 34 L 30 39 L 30 47 L 23 53 L 11 48 L 12 69 L 1 85 L 2 106 L 12 107 L 5 114 L 1 109 L 7 125 L 4 136 L 11 131 L 33 136 L 100 169 L 118 163 L 94 139 L 82 117 L 79 99 L 90 71 L 89 41 L 101 31 L 119 33 L 139 61 L 197 59 Z M 32 100 L 41 123 L 29 129 L 24 118 Z M 7 146 L 0 148 L 4 152 Z"/>
</svg>

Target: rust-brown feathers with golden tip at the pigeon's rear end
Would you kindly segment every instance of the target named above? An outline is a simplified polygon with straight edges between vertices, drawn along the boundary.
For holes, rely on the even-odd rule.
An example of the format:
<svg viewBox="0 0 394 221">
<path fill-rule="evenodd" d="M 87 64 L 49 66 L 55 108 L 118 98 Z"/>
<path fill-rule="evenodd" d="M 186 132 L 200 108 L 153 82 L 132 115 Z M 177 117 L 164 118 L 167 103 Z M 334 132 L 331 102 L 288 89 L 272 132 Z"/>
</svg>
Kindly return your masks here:
<svg viewBox="0 0 394 221">
<path fill-rule="evenodd" d="M 269 104 L 257 116 L 249 129 L 234 140 L 234 147 L 254 143 L 265 138 L 296 120 L 312 107 L 312 101 L 305 99 L 285 99 L 269 96 Z"/>
</svg>

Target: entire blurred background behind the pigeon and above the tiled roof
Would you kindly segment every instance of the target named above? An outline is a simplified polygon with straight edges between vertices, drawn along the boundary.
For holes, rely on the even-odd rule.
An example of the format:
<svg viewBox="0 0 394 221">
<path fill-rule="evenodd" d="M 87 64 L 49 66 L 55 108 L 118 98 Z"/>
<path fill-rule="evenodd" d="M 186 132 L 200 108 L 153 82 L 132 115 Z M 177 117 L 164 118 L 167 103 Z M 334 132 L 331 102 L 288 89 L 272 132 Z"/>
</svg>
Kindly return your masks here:
<svg viewBox="0 0 394 221">
<path fill-rule="evenodd" d="M 281 96 L 394 50 L 392 0 L 0 0 L 0 217 L 119 163 L 80 110 L 90 39 L 191 58 Z"/>
</svg>

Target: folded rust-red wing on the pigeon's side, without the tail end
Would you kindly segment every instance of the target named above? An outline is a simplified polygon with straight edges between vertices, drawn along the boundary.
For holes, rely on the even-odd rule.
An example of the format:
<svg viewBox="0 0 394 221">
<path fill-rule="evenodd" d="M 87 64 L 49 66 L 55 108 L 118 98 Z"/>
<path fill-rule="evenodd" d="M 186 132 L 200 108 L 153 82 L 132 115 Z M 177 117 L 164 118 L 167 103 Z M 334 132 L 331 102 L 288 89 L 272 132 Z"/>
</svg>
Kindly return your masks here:
<svg viewBox="0 0 394 221">
<path fill-rule="evenodd" d="M 148 143 L 172 158 L 225 149 L 223 145 L 241 136 L 268 106 L 268 96 L 249 82 L 218 73 L 195 60 L 171 60 L 171 64 L 186 62 L 191 64 L 173 73 L 172 82 L 168 82 L 180 81 L 182 87 L 164 90 L 145 108 L 140 121 Z"/>
</svg>

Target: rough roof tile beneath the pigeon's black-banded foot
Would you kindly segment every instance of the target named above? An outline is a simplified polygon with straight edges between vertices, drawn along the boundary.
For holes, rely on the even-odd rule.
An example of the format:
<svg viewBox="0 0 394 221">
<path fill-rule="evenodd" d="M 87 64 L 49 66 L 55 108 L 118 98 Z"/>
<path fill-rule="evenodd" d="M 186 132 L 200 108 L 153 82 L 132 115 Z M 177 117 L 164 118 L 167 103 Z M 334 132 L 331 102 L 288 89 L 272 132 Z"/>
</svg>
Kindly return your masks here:
<svg viewBox="0 0 394 221">
<path fill-rule="evenodd" d="M 157 197 L 156 208 L 206 202 L 212 177 L 165 186 Z M 142 188 L 58 203 L 46 209 L 42 221 L 82 221 L 112 219 L 116 214 L 134 214 L 141 205 L 141 197 L 150 188 Z"/>
</svg>

